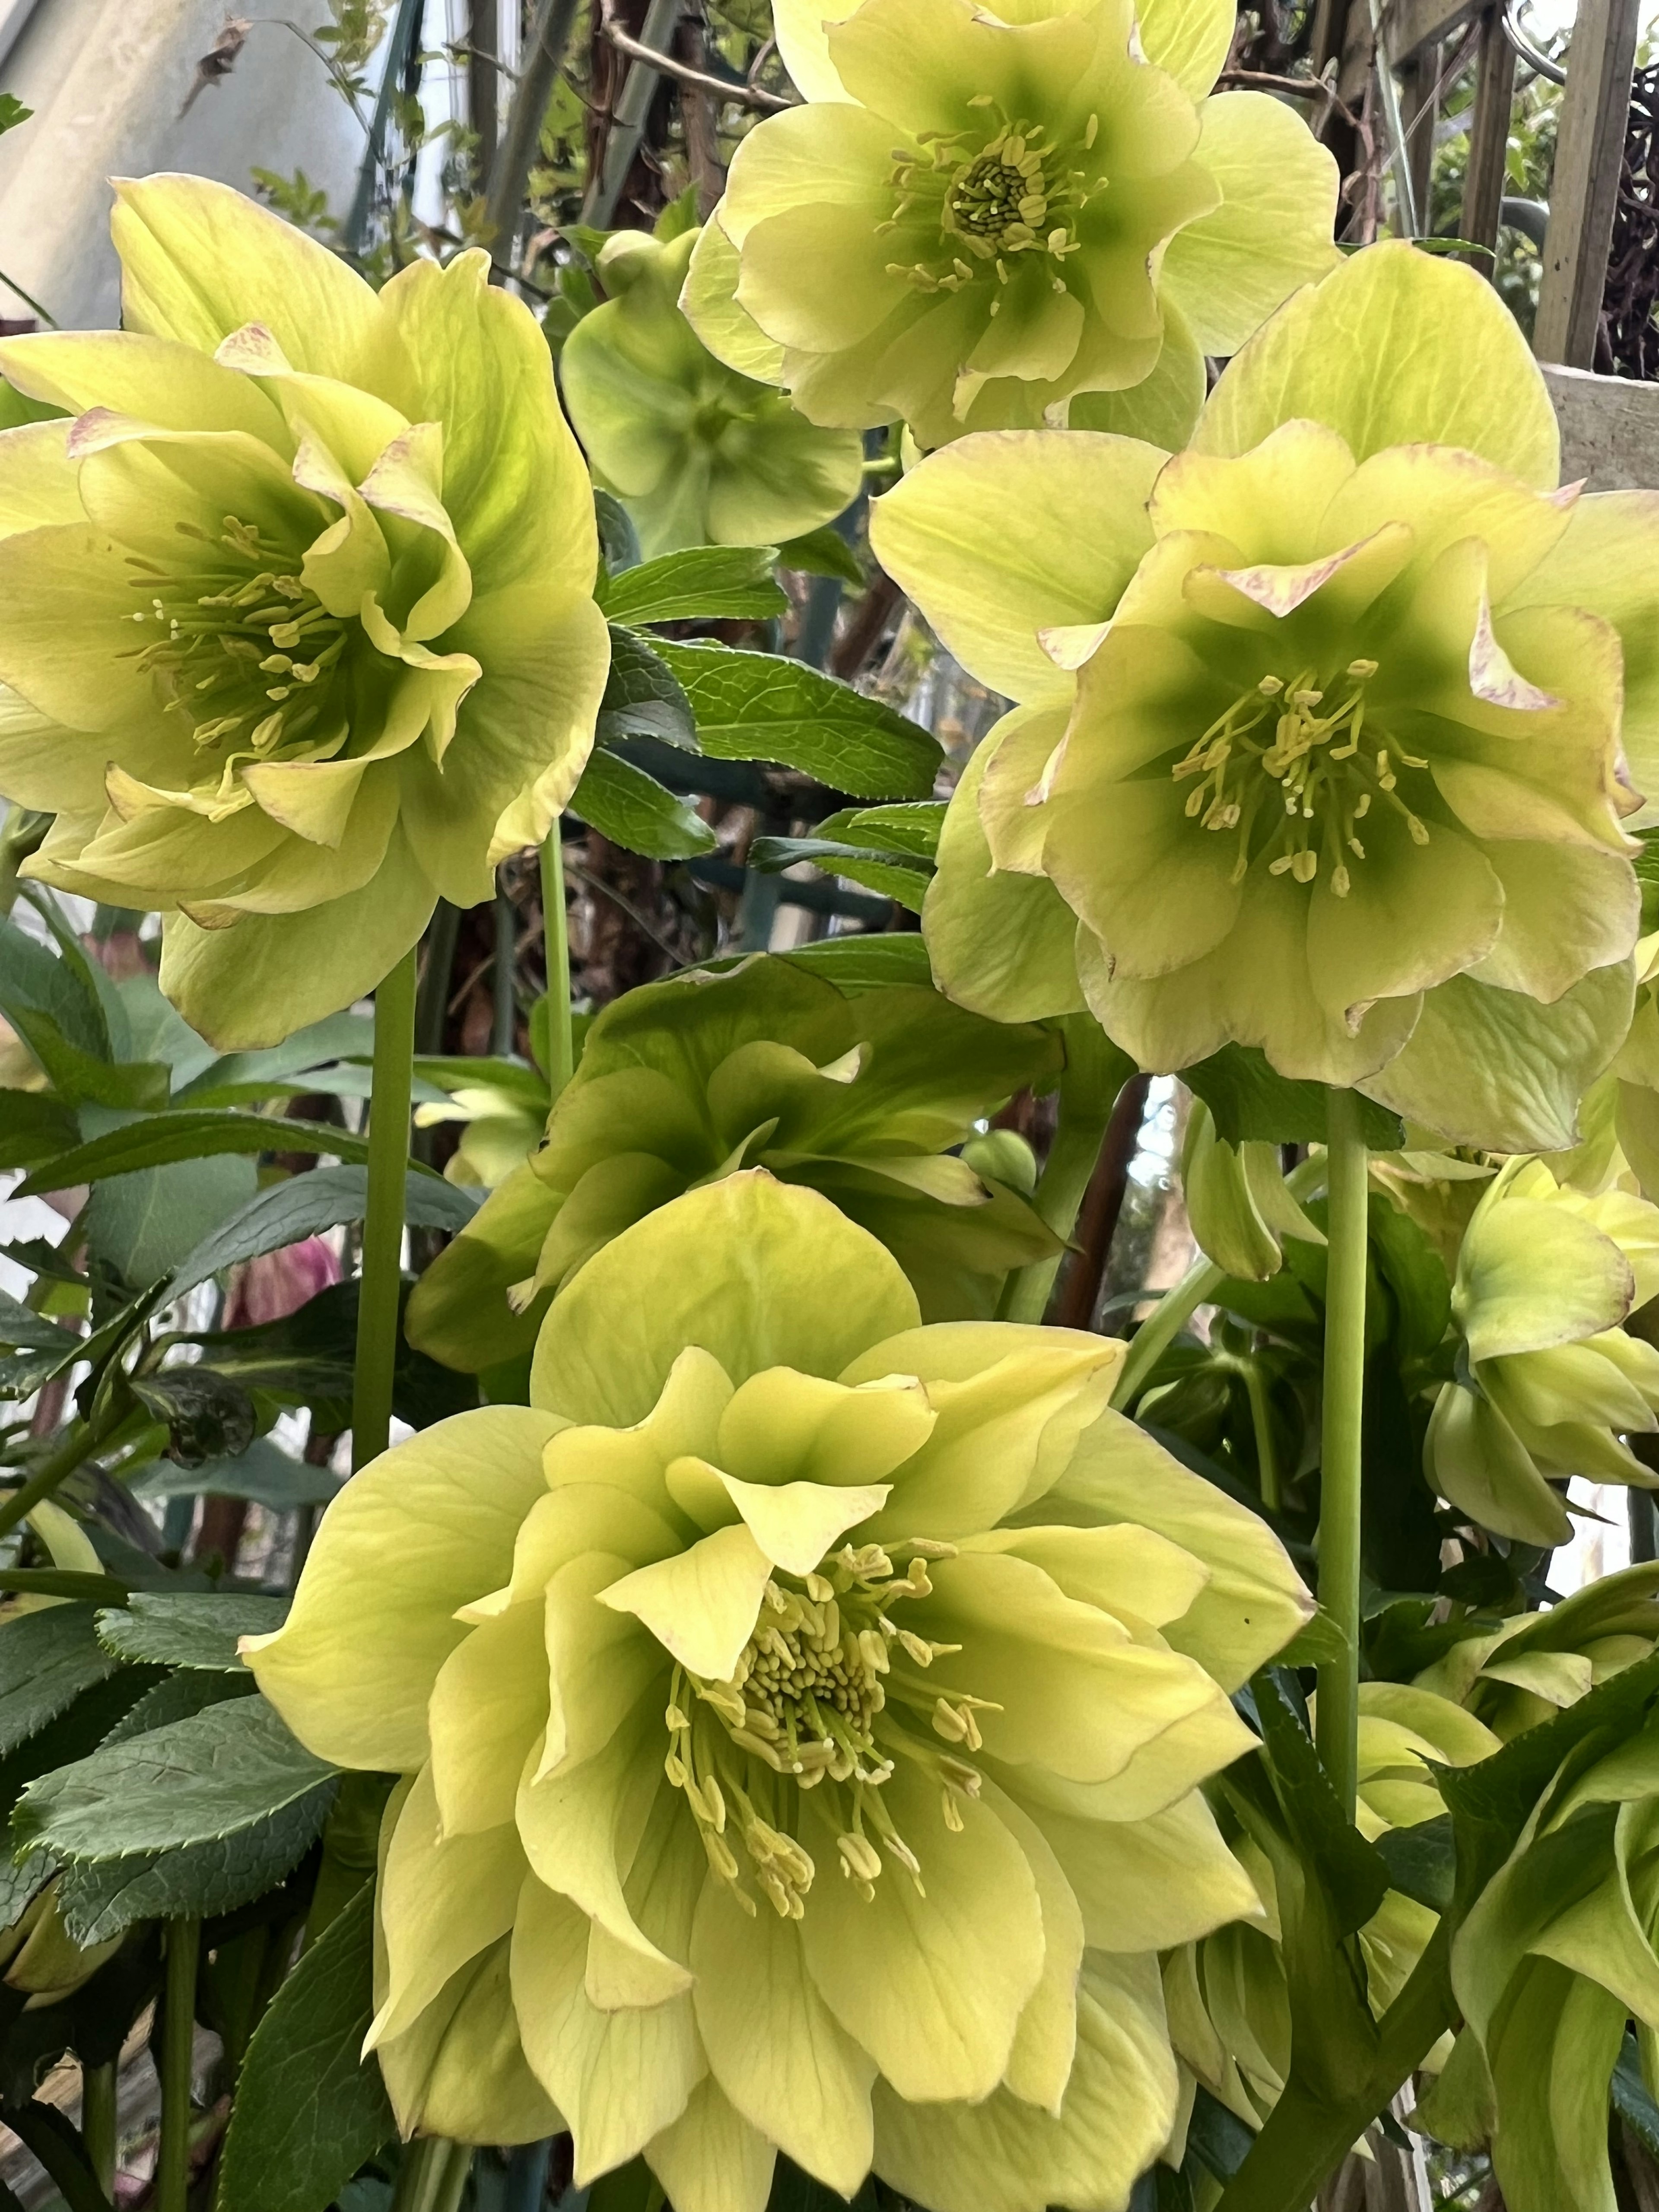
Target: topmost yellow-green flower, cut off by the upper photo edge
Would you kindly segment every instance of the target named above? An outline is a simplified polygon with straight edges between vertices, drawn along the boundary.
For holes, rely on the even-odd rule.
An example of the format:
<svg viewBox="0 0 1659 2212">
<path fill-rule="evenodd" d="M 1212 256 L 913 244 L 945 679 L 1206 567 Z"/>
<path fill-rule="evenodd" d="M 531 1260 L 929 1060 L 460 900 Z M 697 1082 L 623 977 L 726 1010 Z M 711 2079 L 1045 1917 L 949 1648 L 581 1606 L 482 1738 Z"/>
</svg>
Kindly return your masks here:
<svg viewBox="0 0 1659 2212">
<path fill-rule="evenodd" d="M 706 232 L 737 265 L 692 261 L 686 310 L 723 358 L 759 327 L 814 422 L 933 447 L 1071 407 L 1179 442 L 1203 354 L 1334 261 L 1329 155 L 1290 106 L 1210 91 L 1225 0 L 774 20 L 807 100 L 739 146 Z"/>
</svg>

